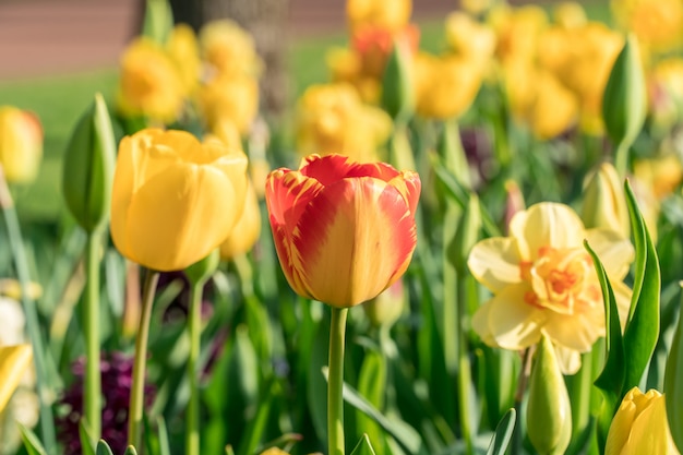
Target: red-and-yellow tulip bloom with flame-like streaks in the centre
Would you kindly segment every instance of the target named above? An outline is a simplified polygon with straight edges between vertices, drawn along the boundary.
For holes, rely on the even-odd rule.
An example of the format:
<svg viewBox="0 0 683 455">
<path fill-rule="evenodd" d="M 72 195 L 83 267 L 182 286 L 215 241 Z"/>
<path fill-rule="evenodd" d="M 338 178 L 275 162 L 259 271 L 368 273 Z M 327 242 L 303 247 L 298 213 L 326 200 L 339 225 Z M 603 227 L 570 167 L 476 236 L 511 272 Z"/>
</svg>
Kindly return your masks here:
<svg viewBox="0 0 683 455">
<path fill-rule="evenodd" d="M 289 286 L 337 308 L 388 288 L 415 251 L 420 187 L 417 172 L 340 155 L 312 155 L 299 170 L 274 170 L 265 200 Z"/>
</svg>

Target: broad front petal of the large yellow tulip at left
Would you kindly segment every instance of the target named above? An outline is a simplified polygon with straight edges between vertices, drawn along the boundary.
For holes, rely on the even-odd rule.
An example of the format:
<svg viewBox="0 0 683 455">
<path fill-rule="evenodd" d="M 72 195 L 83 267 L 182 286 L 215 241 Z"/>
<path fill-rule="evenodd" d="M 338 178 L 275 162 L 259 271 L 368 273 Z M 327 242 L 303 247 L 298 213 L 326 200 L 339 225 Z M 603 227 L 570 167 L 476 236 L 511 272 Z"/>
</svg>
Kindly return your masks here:
<svg viewBox="0 0 683 455">
<path fill-rule="evenodd" d="M 115 243 L 146 267 L 161 272 L 185 268 L 230 234 L 244 202 L 236 193 L 219 169 L 172 165 L 135 193 L 125 235 L 115 237 Z"/>
</svg>

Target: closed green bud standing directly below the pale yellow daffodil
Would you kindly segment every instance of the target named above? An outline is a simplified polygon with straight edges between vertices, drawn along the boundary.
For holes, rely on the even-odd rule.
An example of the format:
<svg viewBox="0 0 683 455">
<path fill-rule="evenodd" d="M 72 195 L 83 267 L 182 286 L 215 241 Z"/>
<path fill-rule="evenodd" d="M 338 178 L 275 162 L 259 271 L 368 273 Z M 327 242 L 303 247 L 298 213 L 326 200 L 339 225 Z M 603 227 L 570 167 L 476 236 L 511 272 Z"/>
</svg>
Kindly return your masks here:
<svg viewBox="0 0 683 455">
<path fill-rule="evenodd" d="M 534 448 L 541 455 L 563 454 L 570 445 L 570 395 L 552 343 L 544 334 L 531 368 L 527 431 Z"/>
</svg>

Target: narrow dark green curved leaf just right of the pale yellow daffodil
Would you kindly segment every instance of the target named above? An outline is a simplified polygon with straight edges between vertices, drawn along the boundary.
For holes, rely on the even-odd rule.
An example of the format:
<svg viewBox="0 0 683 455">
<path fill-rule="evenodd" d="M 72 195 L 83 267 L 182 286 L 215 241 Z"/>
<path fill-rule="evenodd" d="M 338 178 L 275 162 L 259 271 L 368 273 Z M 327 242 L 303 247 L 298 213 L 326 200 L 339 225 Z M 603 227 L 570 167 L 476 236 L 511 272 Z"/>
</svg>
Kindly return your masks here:
<svg viewBox="0 0 683 455">
<path fill-rule="evenodd" d="M 604 447 L 607 432 L 610 428 L 614 411 L 622 398 L 622 387 L 624 385 L 624 345 L 619 322 L 619 311 L 612 285 L 607 277 L 604 267 L 595 251 L 584 241 L 584 247 L 592 256 L 592 262 L 598 274 L 598 280 L 602 288 L 602 300 L 604 302 L 606 315 L 606 362 L 602 372 L 596 379 L 595 385 L 602 392 L 602 408 L 598 417 L 598 439 L 601 447 Z"/>
</svg>

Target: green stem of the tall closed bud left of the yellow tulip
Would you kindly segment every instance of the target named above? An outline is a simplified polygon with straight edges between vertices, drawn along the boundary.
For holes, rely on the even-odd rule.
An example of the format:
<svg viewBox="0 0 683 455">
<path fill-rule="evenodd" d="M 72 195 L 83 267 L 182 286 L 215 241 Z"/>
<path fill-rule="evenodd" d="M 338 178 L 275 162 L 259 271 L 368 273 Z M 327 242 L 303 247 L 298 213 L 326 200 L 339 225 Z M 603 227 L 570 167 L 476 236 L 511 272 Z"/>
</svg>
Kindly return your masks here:
<svg viewBox="0 0 683 455">
<path fill-rule="evenodd" d="M 101 231 L 87 236 L 85 267 L 85 300 L 83 301 L 83 328 L 85 332 L 85 381 L 83 409 L 93 446 L 101 435 L 101 373 L 99 345 L 99 249 Z"/>
</svg>

